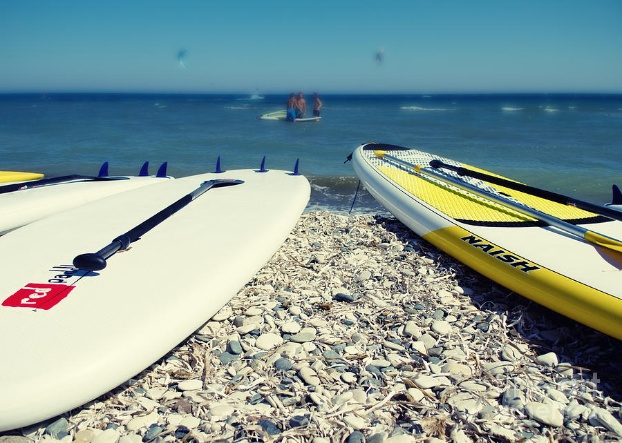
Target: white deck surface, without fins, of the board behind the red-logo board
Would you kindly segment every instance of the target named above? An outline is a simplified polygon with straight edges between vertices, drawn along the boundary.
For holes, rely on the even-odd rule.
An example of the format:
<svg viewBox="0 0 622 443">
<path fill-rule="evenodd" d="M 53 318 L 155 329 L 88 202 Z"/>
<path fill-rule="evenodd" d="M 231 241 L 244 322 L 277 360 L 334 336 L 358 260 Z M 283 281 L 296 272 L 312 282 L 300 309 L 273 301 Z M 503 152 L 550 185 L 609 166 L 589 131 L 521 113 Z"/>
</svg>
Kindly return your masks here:
<svg viewBox="0 0 622 443">
<path fill-rule="evenodd" d="M 90 201 L 167 179 L 171 177 L 120 177 L 102 181 L 77 179 L 2 193 L 0 234 Z"/>
</svg>

